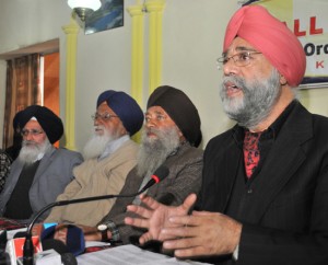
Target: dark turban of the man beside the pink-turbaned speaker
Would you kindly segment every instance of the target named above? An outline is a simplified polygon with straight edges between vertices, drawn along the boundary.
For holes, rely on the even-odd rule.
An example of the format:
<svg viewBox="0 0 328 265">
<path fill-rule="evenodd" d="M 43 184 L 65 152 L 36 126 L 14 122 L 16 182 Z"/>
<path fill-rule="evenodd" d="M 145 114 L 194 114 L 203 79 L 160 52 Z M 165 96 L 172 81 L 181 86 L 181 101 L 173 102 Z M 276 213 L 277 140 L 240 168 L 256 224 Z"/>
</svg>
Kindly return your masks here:
<svg viewBox="0 0 328 265">
<path fill-rule="evenodd" d="M 191 146 L 201 142 L 200 117 L 190 99 L 180 90 L 163 85 L 150 95 L 147 108 L 161 106 L 181 130 Z"/>
</svg>

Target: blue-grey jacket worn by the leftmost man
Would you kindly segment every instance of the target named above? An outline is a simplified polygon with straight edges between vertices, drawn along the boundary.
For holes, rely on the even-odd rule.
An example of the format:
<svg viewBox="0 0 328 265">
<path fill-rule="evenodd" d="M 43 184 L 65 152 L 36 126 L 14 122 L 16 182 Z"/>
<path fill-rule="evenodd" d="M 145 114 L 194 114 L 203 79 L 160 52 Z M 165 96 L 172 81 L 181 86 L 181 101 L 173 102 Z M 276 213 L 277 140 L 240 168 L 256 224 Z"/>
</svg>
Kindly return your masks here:
<svg viewBox="0 0 328 265">
<path fill-rule="evenodd" d="M 73 168 L 82 162 L 83 158 L 79 152 L 67 149 L 51 147 L 45 153 L 30 189 L 30 203 L 34 214 L 56 200 L 57 196 L 73 180 Z M 17 183 L 23 166 L 24 164 L 19 159 L 12 163 L 11 172 L 0 194 L 0 216 L 3 216 L 5 205 Z M 20 210 L 19 205 L 17 210 Z M 42 219 L 48 214 L 44 215 Z M 30 220 L 24 220 L 24 222 L 28 222 Z"/>
</svg>

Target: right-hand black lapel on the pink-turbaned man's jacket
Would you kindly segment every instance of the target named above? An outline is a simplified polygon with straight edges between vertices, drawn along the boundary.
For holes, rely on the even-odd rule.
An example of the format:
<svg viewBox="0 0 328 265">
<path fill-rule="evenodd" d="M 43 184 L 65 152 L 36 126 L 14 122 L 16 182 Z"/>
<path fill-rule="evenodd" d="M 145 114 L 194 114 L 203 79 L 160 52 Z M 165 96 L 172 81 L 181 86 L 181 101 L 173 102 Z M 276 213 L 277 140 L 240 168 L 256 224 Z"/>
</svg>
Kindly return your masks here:
<svg viewBox="0 0 328 265">
<path fill-rule="evenodd" d="M 256 207 L 249 207 L 245 219 L 258 222 L 266 209 L 306 159 L 302 143 L 313 136 L 312 116 L 297 104 L 281 128 L 260 174 L 258 187 L 253 196 Z"/>
</svg>

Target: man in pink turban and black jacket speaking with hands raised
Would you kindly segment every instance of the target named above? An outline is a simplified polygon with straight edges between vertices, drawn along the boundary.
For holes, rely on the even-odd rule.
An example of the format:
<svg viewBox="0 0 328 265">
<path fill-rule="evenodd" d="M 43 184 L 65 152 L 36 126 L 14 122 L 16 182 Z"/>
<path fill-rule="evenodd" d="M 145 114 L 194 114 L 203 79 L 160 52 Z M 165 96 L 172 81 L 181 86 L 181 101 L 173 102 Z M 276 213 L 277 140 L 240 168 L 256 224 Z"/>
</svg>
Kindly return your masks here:
<svg viewBox="0 0 328 265">
<path fill-rule="evenodd" d="M 220 61 L 223 107 L 237 125 L 208 143 L 195 210 L 188 215 L 195 194 L 171 208 L 143 196 L 148 208 L 128 208 L 143 218 L 126 223 L 149 229 L 141 243 L 164 241 L 178 257 L 328 264 L 328 118 L 295 97 L 301 43 L 265 8 L 244 7 Z"/>
</svg>

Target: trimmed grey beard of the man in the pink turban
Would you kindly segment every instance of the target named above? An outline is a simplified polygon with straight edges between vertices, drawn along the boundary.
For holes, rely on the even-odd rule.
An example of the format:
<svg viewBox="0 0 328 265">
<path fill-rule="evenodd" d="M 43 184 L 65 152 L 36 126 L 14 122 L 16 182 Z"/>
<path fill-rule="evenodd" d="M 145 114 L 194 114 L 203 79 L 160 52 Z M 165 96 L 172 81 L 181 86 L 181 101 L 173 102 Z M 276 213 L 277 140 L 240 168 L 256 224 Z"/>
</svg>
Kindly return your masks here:
<svg viewBox="0 0 328 265">
<path fill-rule="evenodd" d="M 224 84 L 233 82 L 243 90 L 243 97 L 227 97 Z M 273 69 L 271 76 L 266 80 L 254 80 L 246 82 L 239 77 L 223 78 L 220 91 L 223 108 L 227 116 L 246 128 L 254 128 L 266 119 L 272 106 L 281 95 L 280 76 Z"/>
</svg>

